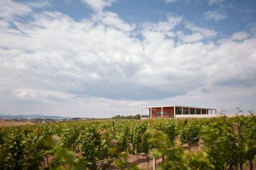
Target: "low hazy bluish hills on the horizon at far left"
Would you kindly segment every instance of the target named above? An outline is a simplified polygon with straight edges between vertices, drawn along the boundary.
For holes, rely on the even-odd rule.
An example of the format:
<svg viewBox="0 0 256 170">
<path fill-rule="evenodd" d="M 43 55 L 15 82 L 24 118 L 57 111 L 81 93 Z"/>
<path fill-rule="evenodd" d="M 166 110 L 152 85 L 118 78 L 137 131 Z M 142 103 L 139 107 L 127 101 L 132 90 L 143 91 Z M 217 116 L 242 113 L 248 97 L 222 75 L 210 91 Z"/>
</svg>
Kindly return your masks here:
<svg viewBox="0 0 256 170">
<path fill-rule="evenodd" d="M 3 115 L 0 114 L 0 118 L 4 119 L 71 119 L 70 117 L 63 116 L 48 116 L 48 115 Z"/>
</svg>

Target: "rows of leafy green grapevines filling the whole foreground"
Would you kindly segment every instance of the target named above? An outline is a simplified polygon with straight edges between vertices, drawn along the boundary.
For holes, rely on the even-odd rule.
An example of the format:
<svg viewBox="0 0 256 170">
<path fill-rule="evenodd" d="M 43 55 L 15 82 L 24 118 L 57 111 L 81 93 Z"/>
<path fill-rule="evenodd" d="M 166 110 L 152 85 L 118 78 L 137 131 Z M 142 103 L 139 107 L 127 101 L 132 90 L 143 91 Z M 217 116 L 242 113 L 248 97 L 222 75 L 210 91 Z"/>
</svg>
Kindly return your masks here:
<svg viewBox="0 0 256 170">
<path fill-rule="evenodd" d="M 139 169 L 128 155 L 162 169 L 253 169 L 256 154 L 255 115 L 0 128 L 0 169 Z"/>
</svg>

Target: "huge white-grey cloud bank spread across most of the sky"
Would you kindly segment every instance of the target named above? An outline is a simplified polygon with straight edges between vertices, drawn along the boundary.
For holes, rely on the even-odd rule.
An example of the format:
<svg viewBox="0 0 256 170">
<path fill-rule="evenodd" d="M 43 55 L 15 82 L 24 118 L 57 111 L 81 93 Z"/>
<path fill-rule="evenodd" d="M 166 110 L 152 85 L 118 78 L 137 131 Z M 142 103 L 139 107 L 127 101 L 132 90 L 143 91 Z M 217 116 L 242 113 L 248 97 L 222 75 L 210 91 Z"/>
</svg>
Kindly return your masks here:
<svg viewBox="0 0 256 170">
<path fill-rule="evenodd" d="M 136 26 L 112 12 L 76 21 L 44 11 L 11 22 L 19 31 L 0 20 L 0 112 L 100 117 L 137 113 L 143 105 L 208 107 L 211 100 L 205 99 L 212 95 L 226 99 L 241 89 L 246 94 L 236 100 L 256 95 L 256 39 L 246 33 L 214 44 L 203 40 L 216 36 L 215 30 L 179 16 Z M 191 33 L 175 30 L 181 23 Z"/>
</svg>

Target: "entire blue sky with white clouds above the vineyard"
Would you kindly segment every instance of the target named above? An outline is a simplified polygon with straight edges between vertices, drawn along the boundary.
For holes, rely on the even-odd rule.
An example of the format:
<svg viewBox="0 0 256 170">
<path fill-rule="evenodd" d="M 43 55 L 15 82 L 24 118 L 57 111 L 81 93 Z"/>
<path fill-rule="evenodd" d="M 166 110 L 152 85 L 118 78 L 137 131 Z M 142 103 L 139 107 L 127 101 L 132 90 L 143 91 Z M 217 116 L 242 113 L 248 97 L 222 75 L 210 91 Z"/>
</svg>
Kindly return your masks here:
<svg viewBox="0 0 256 170">
<path fill-rule="evenodd" d="M 0 1 L 0 114 L 256 110 L 256 1 Z"/>
</svg>

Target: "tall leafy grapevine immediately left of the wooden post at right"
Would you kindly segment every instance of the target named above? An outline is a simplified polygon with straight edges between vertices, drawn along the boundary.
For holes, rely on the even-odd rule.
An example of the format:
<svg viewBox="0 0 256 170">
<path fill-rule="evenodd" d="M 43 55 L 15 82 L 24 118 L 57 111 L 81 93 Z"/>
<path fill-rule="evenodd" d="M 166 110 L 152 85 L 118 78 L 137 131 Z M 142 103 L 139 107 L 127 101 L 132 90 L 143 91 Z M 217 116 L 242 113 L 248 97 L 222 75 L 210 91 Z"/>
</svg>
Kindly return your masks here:
<svg viewBox="0 0 256 170">
<path fill-rule="evenodd" d="M 233 132 L 233 124 L 224 121 L 212 122 L 202 127 L 200 137 L 204 141 L 203 150 L 206 151 L 215 168 L 224 169 L 236 164 L 237 140 Z"/>
</svg>

